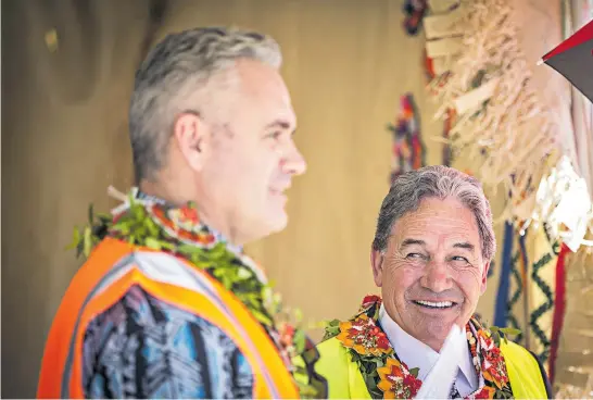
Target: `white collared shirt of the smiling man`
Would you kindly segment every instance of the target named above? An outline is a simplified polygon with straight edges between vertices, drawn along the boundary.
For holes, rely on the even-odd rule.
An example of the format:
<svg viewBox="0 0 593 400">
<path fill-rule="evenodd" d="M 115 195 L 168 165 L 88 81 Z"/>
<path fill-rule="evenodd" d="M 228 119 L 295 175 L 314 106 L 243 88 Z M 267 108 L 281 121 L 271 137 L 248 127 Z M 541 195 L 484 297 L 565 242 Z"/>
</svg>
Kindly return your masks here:
<svg viewBox="0 0 593 400">
<path fill-rule="evenodd" d="M 379 310 L 379 323 L 383 328 L 391 346 L 395 350 L 398 358 L 403 361 L 408 368 L 418 367 L 418 379 L 425 380 L 426 376 L 432 370 L 432 366 L 439 359 L 439 353 L 432 350 L 420 340 L 408 335 L 400 327 L 387 313 L 383 304 Z M 455 379 L 455 387 L 462 397 L 471 395 L 478 389 L 478 374 L 471 363 L 471 353 L 465 339 L 465 335 L 458 337 L 464 340 L 464 357 L 459 359 L 459 371 Z"/>
</svg>

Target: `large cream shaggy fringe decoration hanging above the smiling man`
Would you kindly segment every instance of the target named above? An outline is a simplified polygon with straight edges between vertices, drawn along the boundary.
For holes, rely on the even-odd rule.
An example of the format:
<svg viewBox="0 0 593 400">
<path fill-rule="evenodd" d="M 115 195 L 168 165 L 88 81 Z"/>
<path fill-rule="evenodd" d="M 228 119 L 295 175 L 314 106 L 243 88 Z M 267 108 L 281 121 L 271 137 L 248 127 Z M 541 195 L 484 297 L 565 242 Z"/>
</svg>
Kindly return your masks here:
<svg viewBox="0 0 593 400">
<path fill-rule="evenodd" d="M 462 0 L 426 17 L 427 53 L 440 71 L 428 90 L 441 105 L 437 117 L 455 110 L 449 142 L 468 155 L 467 167 L 484 187 L 510 191 L 503 221 L 525 221 L 535 195 L 523 198 L 525 183 L 546 171 L 542 160 L 557 147 L 558 124 L 530 85 L 512 13 L 510 0 Z"/>
</svg>

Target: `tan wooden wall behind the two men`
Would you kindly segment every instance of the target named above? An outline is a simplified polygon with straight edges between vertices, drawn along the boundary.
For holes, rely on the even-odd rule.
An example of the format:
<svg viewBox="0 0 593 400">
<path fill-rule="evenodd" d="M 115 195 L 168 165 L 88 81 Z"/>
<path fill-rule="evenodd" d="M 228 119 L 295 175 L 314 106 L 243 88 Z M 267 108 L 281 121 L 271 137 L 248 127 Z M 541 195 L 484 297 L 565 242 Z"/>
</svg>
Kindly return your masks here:
<svg viewBox="0 0 593 400">
<path fill-rule="evenodd" d="M 127 103 L 149 29 L 148 0 L 2 2 L 2 396 L 33 397 L 46 335 L 79 263 L 64 247 L 89 202 L 131 184 Z M 151 40 L 203 25 L 273 35 L 308 172 L 290 190 L 288 228 L 248 247 L 288 304 L 346 317 L 374 291 L 369 248 L 388 191 L 400 96 L 422 116 L 430 164 L 442 124 L 425 96 L 424 39 L 400 0 L 176 0 Z M 45 4 L 41 7 L 41 4 Z M 45 34 L 55 28 L 58 51 Z M 492 287 L 492 290 L 495 288 Z M 480 310 L 491 316 L 492 293 Z"/>
</svg>

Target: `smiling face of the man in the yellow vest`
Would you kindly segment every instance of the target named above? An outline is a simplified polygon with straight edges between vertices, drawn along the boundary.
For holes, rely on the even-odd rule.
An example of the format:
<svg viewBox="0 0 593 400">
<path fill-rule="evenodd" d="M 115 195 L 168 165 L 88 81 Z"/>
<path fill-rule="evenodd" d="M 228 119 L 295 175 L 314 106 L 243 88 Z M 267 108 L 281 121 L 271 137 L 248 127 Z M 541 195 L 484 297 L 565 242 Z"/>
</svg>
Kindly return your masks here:
<svg viewBox="0 0 593 400">
<path fill-rule="evenodd" d="M 439 351 L 485 290 L 474 213 L 455 199 L 426 198 L 395 222 L 384 255 L 373 253 L 375 283 L 388 314 L 406 333 Z"/>
</svg>

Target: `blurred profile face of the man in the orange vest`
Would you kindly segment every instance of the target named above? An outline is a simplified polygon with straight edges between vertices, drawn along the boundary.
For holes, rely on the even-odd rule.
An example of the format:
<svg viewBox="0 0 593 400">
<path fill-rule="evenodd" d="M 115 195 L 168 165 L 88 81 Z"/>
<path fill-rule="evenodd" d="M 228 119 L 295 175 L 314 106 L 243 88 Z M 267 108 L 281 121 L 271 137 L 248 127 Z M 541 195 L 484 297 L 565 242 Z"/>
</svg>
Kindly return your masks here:
<svg viewBox="0 0 593 400">
<path fill-rule="evenodd" d="M 264 237 L 287 224 L 285 190 L 306 164 L 292 134 L 296 121 L 278 71 L 253 60 L 237 62 L 227 124 L 213 133 L 203 171 L 216 207 L 241 236 Z"/>
</svg>

